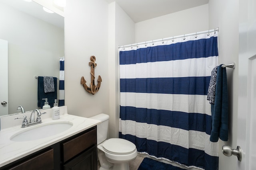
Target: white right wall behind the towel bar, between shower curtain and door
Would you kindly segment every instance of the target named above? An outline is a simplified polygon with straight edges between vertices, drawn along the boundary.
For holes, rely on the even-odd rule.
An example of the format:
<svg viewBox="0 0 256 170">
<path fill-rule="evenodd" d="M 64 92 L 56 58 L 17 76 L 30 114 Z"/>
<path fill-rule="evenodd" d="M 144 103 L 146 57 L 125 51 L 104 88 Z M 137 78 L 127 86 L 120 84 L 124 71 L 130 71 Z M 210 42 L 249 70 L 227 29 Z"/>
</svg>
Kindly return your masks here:
<svg viewBox="0 0 256 170">
<path fill-rule="evenodd" d="M 222 146 L 236 148 L 238 115 L 238 12 L 239 0 L 209 0 L 209 27 L 219 27 L 219 63 L 236 63 L 236 68 L 227 68 L 229 98 L 229 139 L 220 140 L 220 170 L 234 170 L 237 166 L 236 156 L 224 156 Z"/>
</svg>

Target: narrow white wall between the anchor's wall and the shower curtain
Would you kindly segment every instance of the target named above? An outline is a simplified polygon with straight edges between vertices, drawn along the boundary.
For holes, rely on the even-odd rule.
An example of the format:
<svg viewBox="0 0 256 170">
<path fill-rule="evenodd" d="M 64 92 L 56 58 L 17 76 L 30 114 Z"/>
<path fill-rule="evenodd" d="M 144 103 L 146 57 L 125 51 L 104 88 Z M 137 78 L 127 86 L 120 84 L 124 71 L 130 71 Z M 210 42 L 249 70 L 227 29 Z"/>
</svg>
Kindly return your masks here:
<svg viewBox="0 0 256 170">
<path fill-rule="evenodd" d="M 118 45 L 134 43 L 135 24 L 116 2 L 108 6 L 109 137 L 118 137 L 119 59 Z"/>
</svg>

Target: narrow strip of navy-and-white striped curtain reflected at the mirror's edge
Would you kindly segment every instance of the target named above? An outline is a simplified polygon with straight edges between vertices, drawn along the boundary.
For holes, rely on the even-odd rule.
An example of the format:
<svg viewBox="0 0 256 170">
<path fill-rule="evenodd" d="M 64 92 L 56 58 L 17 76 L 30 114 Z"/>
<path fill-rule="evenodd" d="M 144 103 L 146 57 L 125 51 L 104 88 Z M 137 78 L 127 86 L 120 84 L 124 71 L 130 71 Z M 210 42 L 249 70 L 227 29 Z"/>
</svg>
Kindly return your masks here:
<svg viewBox="0 0 256 170">
<path fill-rule="evenodd" d="M 65 105 L 65 90 L 64 90 L 64 80 L 65 80 L 65 72 L 64 72 L 64 57 L 60 57 L 60 83 L 59 83 L 59 106 Z"/>
</svg>

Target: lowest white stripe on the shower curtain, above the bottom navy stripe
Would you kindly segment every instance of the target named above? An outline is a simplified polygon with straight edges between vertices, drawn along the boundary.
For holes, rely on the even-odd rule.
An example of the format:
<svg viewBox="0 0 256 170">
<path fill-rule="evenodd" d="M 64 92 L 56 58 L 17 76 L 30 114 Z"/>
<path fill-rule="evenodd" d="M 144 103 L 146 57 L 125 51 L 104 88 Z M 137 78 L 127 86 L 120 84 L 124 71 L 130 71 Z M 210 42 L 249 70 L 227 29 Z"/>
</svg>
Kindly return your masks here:
<svg viewBox="0 0 256 170">
<path fill-rule="evenodd" d="M 186 131 L 168 126 L 139 123 L 131 120 L 120 120 L 123 134 L 134 135 L 139 138 L 145 138 L 154 141 L 162 141 L 173 145 L 178 145 L 184 148 L 194 148 L 199 150 L 206 149 L 206 153 L 211 156 L 219 156 L 216 150 L 219 149 L 218 143 L 210 142 L 210 135 L 200 131 Z M 127 128 L 128 127 L 128 128 Z M 149 134 L 147 129 L 150 129 Z M 161 133 L 159 133 L 159 131 Z M 171 135 L 170 135 L 171 134 Z M 196 136 L 196 138 L 193 138 Z M 208 139 L 208 140 L 205 140 Z M 205 143 L 202 143 L 205 141 Z"/>
</svg>

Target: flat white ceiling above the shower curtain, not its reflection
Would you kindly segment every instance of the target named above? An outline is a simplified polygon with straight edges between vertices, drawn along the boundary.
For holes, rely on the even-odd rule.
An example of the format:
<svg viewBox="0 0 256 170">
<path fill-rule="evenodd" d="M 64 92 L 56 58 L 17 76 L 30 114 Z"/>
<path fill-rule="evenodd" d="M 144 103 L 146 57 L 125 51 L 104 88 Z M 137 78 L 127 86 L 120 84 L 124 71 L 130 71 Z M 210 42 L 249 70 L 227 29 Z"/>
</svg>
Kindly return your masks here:
<svg viewBox="0 0 256 170">
<path fill-rule="evenodd" d="M 209 0 L 106 0 L 116 3 L 135 22 L 208 4 Z"/>
</svg>

